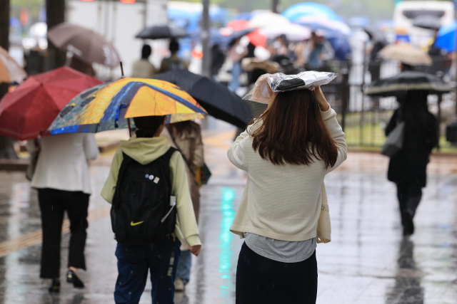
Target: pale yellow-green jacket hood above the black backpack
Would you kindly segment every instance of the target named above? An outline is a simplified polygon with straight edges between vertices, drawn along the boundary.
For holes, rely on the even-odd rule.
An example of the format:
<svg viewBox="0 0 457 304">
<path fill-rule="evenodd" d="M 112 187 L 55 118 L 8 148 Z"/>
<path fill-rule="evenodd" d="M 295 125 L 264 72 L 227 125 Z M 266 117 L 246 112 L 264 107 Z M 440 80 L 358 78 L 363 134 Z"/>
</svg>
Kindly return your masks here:
<svg viewBox="0 0 457 304">
<path fill-rule="evenodd" d="M 136 138 L 121 140 L 121 150 L 140 164 L 149 164 L 164 155 L 170 148 L 165 137 Z"/>
</svg>

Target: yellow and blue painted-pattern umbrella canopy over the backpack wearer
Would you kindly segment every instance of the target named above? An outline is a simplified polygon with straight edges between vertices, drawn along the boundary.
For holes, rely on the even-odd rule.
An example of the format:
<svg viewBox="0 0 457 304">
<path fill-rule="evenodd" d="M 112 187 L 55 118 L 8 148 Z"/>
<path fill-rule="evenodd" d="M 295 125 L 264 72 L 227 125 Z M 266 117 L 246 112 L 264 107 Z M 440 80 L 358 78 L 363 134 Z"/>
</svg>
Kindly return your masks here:
<svg viewBox="0 0 457 304">
<path fill-rule="evenodd" d="M 205 118 L 206 111 L 181 88 L 162 80 L 121 78 L 97 85 L 71 100 L 51 135 L 102 132 L 129 126 L 128 118 L 166 115 L 166 122 Z"/>
</svg>

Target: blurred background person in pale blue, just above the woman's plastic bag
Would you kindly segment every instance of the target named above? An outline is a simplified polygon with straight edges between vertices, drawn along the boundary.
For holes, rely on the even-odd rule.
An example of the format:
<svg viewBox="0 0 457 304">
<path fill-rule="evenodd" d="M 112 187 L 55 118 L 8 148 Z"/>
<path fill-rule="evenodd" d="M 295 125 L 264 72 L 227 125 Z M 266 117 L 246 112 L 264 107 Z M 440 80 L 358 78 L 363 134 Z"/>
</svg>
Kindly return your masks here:
<svg viewBox="0 0 457 304">
<path fill-rule="evenodd" d="M 303 61 L 308 70 L 320 70 L 324 61 L 333 59 L 335 51 L 326 38 L 320 37 L 315 31 L 311 32 L 311 39 L 306 41 L 303 48 Z"/>
</svg>

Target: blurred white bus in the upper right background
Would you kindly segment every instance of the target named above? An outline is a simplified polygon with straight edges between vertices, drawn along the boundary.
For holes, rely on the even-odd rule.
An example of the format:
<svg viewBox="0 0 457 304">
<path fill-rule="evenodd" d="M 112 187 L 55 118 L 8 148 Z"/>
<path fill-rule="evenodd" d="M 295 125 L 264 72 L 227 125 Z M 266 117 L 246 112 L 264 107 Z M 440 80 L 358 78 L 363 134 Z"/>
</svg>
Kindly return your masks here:
<svg viewBox="0 0 457 304">
<path fill-rule="evenodd" d="M 410 41 L 421 47 L 433 36 L 433 31 L 413 26 L 418 16 L 435 16 L 441 25 L 454 20 L 454 4 L 451 1 L 401 1 L 393 11 L 393 26 L 397 33 L 397 41 Z"/>
</svg>

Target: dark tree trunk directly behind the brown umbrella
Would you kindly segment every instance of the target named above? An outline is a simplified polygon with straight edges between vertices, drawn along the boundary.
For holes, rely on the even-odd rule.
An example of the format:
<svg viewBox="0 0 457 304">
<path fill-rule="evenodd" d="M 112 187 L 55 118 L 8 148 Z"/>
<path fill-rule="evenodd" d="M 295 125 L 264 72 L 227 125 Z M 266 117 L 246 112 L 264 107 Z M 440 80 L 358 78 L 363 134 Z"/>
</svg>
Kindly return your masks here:
<svg viewBox="0 0 457 304">
<path fill-rule="evenodd" d="M 48 28 L 50 29 L 62 22 L 65 22 L 65 0 L 46 0 L 46 23 Z M 56 48 L 51 41 L 48 41 L 48 50 L 51 63 L 50 69 L 59 68 L 65 64 L 66 51 Z"/>
</svg>

